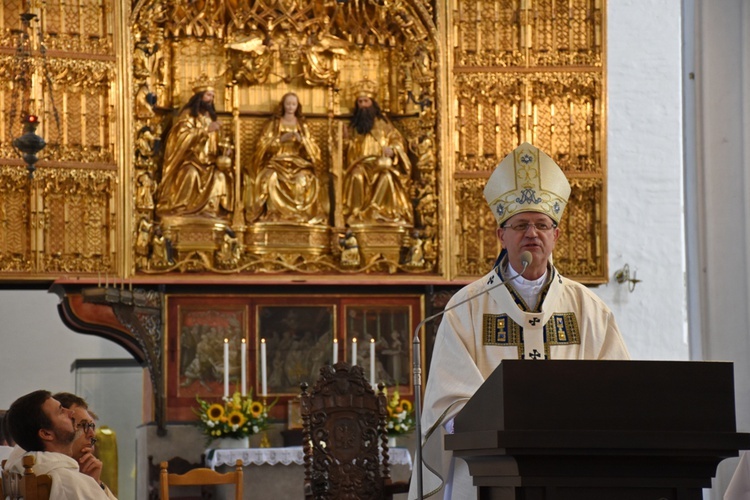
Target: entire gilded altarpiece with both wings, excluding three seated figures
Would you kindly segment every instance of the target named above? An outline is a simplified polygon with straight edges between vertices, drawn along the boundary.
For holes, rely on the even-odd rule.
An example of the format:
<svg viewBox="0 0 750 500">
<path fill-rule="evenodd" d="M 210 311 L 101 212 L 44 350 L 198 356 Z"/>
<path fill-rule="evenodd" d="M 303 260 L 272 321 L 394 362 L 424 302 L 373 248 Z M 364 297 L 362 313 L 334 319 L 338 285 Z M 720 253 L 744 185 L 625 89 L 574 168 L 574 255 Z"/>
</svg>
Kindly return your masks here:
<svg viewBox="0 0 750 500">
<path fill-rule="evenodd" d="M 607 279 L 601 0 L 32 2 L 33 57 L 21 60 L 27 7 L 0 10 L 1 276 L 465 281 L 498 252 L 484 183 L 529 141 L 573 186 L 556 264 L 586 283 Z M 220 221 L 170 219 L 158 213 L 166 143 L 203 77 L 215 90 L 226 210 Z M 392 176 L 409 212 L 394 220 L 358 216 L 346 201 L 363 90 L 403 138 L 399 167 L 385 154 L 379 164 L 409 165 Z M 253 208 L 252 159 L 287 92 L 319 150 L 306 179 L 322 216 L 301 222 Z M 33 179 L 11 145 L 24 103 L 48 143 Z"/>
</svg>

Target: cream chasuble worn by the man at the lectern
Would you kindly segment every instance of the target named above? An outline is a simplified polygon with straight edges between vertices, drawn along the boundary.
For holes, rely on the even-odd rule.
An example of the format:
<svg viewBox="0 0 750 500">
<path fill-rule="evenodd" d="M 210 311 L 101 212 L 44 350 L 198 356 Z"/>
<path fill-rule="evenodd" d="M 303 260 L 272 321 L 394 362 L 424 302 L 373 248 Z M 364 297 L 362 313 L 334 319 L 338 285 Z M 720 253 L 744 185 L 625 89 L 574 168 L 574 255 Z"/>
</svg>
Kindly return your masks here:
<svg viewBox="0 0 750 500">
<path fill-rule="evenodd" d="M 477 498 L 466 462 L 443 449 L 445 424 L 503 359 L 629 359 L 606 304 L 554 267 L 548 272 L 538 312 L 524 311 L 523 300 L 510 286 L 489 290 L 499 279 L 494 270 L 459 290 L 446 305 L 449 309 L 480 294 L 446 312 L 435 338 L 421 421 L 425 498 Z M 416 486 L 414 474 L 410 499 L 417 497 Z"/>
</svg>

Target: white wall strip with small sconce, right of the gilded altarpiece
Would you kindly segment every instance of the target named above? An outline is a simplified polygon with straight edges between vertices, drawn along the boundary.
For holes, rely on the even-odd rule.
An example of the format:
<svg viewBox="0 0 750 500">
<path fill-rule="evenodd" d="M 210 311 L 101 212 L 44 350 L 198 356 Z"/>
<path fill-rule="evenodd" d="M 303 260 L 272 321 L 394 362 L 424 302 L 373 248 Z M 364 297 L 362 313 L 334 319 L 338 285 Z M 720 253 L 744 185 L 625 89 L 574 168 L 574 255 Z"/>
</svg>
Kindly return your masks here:
<svg viewBox="0 0 750 500">
<path fill-rule="evenodd" d="M 634 359 L 688 359 L 680 0 L 607 2 L 610 305 Z M 644 15 L 648 13 L 648 15 Z M 628 264 L 643 280 L 617 284 Z"/>
</svg>

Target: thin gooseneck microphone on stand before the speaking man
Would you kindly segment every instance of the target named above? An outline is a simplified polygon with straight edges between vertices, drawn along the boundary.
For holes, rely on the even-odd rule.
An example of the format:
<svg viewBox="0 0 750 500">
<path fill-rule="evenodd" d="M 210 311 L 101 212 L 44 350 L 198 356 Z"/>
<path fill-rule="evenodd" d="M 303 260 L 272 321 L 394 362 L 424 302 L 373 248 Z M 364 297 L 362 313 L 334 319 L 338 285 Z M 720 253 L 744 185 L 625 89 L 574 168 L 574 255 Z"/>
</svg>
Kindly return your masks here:
<svg viewBox="0 0 750 500">
<path fill-rule="evenodd" d="M 516 274 L 515 276 L 511 276 L 505 281 L 500 281 L 499 283 L 495 283 L 491 287 L 482 290 L 479 293 L 475 293 L 474 295 L 465 298 L 464 300 L 453 304 L 450 307 L 447 307 L 440 311 L 437 314 L 433 314 L 432 316 L 427 316 L 425 319 L 419 322 L 417 325 L 417 328 L 414 329 L 414 336 L 412 340 L 412 358 L 414 361 L 412 362 L 412 369 L 414 374 L 414 418 L 416 421 L 416 428 L 415 431 L 417 433 L 417 449 L 414 453 L 414 461 L 417 464 L 417 498 L 419 500 L 422 500 L 424 498 L 424 485 L 422 483 L 422 359 L 421 359 L 421 349 L 420 349 L 420 341 L 419 341 L 419 331 L 422 329 L 422 327 L 432 321 L 435 318 L 439 318 L 443 314 L 447 313 L 451 309 L 455 309 L 458 306 L 462 306 L 466 304 L 469 301 L 472 301 L 476 299 L 477 297 L 484 295 L 485 293 L 488 293 L 492 290 L 494 290 L 497 287 L 507 285 L 511 281 L 517 279 L 519 276 L 521 276 L 523 273 L 526 272 L 526 268 L 531 265 L 531 262 L 534 260 L 534 257 L 531 255 L 531 252 L 526 250 L 525 252 L 521 253 L 521 265 L 523 268 L 521 269 L 521 272 Z M 497 270 L 497 267 L 500 265 L 498 262 L 493 270 Z"/>
</svg>

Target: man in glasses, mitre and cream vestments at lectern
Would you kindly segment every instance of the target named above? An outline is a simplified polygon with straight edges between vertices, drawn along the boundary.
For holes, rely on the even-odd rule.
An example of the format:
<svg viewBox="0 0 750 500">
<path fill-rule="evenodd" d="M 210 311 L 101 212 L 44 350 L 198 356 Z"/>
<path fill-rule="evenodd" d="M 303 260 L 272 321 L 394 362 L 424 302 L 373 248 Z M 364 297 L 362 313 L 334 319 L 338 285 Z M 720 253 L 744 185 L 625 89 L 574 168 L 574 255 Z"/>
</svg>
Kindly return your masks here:
<svg viewBox="0 0 750 500">
<path fill-rule="evenodd" d="M 425 497 L 477 498 L 466 462 L 442 448 L 453 417 L 503 359 L 629 359 L 610 309 L 551 261 L 570 184 L 543 151 L 524 143 L 498 164 L 484 196 L 502 252 L 489 273 L 453 296 L 435 339 L 422 432 L 432 434 Z M 499 286 L 503 284 L 502 286 Z M 529 395 L 533 397 L 533 395 Z M 435 428 L 434 434 L 431 429 Z M 416 498 L 416 480 L 409 498 Z"/>
</svg>

